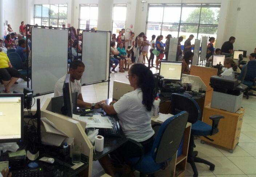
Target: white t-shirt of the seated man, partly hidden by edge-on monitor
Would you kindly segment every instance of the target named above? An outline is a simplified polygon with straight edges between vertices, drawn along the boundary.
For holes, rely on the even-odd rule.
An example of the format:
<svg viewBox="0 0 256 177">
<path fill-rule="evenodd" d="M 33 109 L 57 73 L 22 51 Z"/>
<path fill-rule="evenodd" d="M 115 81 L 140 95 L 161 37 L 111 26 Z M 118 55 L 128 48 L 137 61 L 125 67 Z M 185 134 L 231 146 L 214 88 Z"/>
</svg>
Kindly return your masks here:
<svg viewBox="0 0 256 177">
<path fill-rule="evenodd" d="M 54 88 L 54 97 L 63 95 L 62 89 L 65 82 L 65 78 L 66 78 L 66 75 L 64 75 L 62 78 L 60 78 L 56 82 L 55 88 Z M 75 82 L 71 82 L 71 90 L 72 90 L 72 93 L 77 92 L 77 96 L 78 96 L 82 90 L 81 82 L 77 80 L 75 80 Z"/>
</svg>

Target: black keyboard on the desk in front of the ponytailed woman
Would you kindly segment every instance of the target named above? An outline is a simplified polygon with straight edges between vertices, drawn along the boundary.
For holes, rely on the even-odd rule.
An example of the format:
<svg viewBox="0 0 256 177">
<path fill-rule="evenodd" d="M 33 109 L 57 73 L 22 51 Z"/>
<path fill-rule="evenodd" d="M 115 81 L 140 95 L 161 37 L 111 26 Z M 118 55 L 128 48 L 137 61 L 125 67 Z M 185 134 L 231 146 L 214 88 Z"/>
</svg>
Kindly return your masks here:
<svg viewBox="0 0 256 177">
<path fill-rule="evenodd" d="M 120 134 L 120 125 L 113 117 L 108 117 L 111 121 L 113 128 L 99 128 L 99 135 L 108 137 L 108 136 L 115 136 L 115 137 L 121 137 Z"/>
</svg>

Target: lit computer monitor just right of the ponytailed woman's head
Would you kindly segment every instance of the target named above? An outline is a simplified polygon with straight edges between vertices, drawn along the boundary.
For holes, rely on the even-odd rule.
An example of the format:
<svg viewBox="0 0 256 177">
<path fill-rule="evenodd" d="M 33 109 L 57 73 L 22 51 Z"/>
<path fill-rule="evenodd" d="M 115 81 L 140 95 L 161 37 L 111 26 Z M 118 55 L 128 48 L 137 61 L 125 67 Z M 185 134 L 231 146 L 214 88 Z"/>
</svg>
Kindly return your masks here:
<svg viewBox="0 0 256 177">
<path fill-rule="evenodd" d="M 164 79 L 181 81 L 182 62 L 161 61 L 159 73 Z"/>
</svg>

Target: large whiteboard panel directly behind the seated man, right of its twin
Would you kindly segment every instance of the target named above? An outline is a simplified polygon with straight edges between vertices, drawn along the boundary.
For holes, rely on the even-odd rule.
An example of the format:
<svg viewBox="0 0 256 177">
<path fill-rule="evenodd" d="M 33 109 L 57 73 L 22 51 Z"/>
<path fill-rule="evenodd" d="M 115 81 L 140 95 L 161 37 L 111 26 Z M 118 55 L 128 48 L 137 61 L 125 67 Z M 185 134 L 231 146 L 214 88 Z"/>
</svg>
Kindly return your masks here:
<svg viewBox="0 0 256 177">
<path fill-rule="evenodd" d="M 85 71 L 81 84 L 107 81 L 109 73 L 110 33 L 83 31 L 82 61 Z"/>
</svg>

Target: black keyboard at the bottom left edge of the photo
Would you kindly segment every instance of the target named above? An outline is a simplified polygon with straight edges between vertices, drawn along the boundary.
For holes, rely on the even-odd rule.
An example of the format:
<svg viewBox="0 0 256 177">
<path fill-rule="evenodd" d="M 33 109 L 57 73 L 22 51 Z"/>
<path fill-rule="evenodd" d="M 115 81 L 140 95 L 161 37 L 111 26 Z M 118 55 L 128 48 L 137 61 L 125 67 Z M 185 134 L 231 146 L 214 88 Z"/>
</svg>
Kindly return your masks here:
<svg viewBox="0 0 256 177">
<path fill-rule="evenodd" d="M 12 170 L 12 177 L 43 177 L 43 168 Z"/>
</svg>

